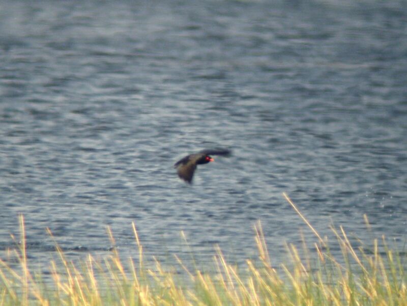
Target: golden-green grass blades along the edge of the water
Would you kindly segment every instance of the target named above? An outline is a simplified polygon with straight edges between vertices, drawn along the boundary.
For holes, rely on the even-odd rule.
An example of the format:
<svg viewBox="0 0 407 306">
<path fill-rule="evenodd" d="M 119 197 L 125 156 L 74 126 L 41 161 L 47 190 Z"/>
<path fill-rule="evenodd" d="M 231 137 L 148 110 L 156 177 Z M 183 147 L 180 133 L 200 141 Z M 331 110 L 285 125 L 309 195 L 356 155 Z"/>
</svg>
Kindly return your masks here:
<svg viewBox="0 0 407 306">
<path fill-rule="evenodd" d="M 355 249 L 342 227 L 331 228 L 342 251 L 335 258 L 323 239 L 294 203 L 283 194 L 318 238 L 312 248 L 287 245 L 286 264 L 273 267 L 258 222 L 255 240 L 258 260 L 242 266 L 226 262 L 217 248 L 213 271 L 194 271 L 175 257 L 180 276 L 158 261 L 144 264 L 136 228 L 137 264 L 125 268 L 117 249 L 104 260 L 88 255 L 79 264 L 69 261 L 56 245 L 58 262 L 50 262 L 52 282 L 33 277 L 25 248 L 24 219 L 20 216 L 20 243 L 14 250 L 19 268 L 0 260 L 0 306 L 2 305 L 407 305 L 407 255 L 389 247 L 382 237 L 368 252 Z M 367 218 L 365 217 L 368 225 Z M 51 232 L 49 234 L 52 237 Z M 108 231 L 114 245 L 114 238 Z M 302 253 L 300 252 L 302 251 Z M 300 255 L 304 254 L 304 255 Z M 179 270 L 180 270 L 179 269 Z"/>
</svg>

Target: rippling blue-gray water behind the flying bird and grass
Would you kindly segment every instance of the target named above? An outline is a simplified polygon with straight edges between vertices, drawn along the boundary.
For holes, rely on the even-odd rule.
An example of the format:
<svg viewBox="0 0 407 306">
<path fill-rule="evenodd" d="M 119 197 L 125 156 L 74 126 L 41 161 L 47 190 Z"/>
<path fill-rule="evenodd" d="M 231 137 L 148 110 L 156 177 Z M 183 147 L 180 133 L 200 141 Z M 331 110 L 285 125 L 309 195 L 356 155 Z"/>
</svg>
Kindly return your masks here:
<svg viewBox="0 0 407 306">
<path fill-rule="evenodd" d="M 407 5 L 403 1 L 0 4 L 0 246 L 25 217 L 46 265 L 48 227 L 72 257 L 183 257 L 219 244 L 278 261 L 300 229 L 407 232 Z M 212 147 L 194 184 L 172 168 Z M 366 230 L 363 214 L 372 225 Z M 5 258 L 5 252 L 1 258 Z M 188 257 L 187 257 L 188 258 Z"/>
</svg>

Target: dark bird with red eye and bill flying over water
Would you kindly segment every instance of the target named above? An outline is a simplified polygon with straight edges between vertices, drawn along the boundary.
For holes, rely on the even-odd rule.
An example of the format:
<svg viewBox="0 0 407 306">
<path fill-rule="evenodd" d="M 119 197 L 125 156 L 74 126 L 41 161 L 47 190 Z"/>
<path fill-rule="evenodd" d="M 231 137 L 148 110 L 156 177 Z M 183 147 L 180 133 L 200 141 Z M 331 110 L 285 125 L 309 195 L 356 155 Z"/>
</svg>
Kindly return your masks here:
<svg viewBox="0 0 407 306">
<path fill-rule="evenodd" d="M 230 155 L 230 150 L 227 149 L 202 150 L 199 151 L 198 153 L 190 154 L 181 158 L 174 164 L 174 168 L 177 169 L 177 173 L 180 178 L 191 184 L 196 166 L 198 164 L 204 164 L 214 161 L 211 155 L 227 156 Z"/>
</svg>

